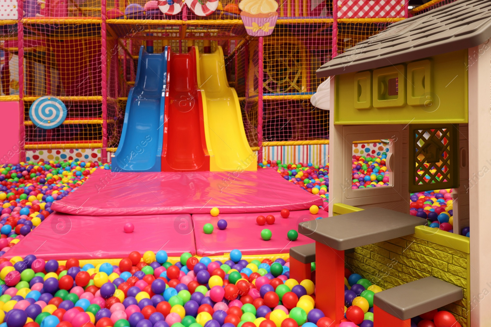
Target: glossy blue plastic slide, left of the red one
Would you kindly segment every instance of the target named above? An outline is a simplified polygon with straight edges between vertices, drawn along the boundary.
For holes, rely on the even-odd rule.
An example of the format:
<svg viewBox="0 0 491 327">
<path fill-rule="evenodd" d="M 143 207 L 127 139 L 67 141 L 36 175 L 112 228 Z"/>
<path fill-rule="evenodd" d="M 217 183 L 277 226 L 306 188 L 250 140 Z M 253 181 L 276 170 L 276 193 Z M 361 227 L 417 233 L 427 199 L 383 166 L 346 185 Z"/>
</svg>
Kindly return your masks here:
<svg viewBox="0 0 491 327">
<path fill-rule="evenodd" d="M 161 171 L 166 79 L 167 47 L 155 54 L 141 47 L 135 87 L 128 94 L 121 140 L 112 158 L 113 171 Z"/>
</svg>

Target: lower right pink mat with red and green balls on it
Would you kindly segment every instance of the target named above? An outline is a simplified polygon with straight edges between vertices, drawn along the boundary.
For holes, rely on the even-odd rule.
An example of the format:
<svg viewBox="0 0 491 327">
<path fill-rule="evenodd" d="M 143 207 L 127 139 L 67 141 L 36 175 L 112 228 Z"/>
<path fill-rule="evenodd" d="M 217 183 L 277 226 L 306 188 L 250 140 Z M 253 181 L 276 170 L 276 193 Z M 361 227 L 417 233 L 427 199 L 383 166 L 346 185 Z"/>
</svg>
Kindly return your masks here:
<svg viewBox="0 0 491 327">
<path fill-rule="evenodd" d="M 273 225 L 259 226 L 256 218 L 259 215 L 273 215 Z M 312 215 L 308 210 L 290 211 L 290 217 L 282 218 L 278 211 L 263 213 L 234 213 L 212 217 L 210 214 L 192 215 L 194 221 L 194 237 L 196 238 L 196 253 L 200 256 L 221 255 L 233 249 L 239 249 L 243 254 L 273 254 L 288 253 L 291 247 L 313 243 L 307 236 L 300 235 L 296 241 L 290 241 L 286 234 L 290 229 L 299 230 L 299 223 L 313 220 L 317 217 L 327 217 L 328 213 L 320 210 Z M 217 228 L 219 219 L 227 221 L 227 228 Z M 205 234 L 203 226 L 213 224 L 212 234 Z M 271 229 L 273 237 L 269 241 L 261 238 L 261 230 Z"/>
</svg>

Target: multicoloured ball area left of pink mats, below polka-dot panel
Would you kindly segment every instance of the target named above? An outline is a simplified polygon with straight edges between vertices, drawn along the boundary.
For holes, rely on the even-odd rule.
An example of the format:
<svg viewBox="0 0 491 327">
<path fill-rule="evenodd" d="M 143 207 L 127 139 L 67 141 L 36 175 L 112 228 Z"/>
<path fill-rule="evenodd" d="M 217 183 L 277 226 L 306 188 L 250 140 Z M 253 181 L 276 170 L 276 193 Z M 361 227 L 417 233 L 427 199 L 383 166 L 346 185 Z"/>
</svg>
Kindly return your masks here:
<svg viewBox="0 0 491 327">
<path fill-rule="evenodd" d="M 39 226 L 53 212 L 52 203 L 74 192 L 97 168 L 105 166 L 71 160 L 3 165 L 0 169 L 0 255 Z"/>
</svg>

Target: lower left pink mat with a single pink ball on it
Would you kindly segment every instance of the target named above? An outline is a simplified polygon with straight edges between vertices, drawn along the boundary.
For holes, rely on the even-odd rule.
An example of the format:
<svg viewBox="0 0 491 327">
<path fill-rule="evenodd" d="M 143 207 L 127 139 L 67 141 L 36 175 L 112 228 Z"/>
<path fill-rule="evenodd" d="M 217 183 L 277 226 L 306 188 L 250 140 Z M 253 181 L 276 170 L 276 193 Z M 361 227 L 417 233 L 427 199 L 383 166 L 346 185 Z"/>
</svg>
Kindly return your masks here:
<svg viewBox="0 0 491 327">
<path fill-rule="evenodd" d="M 135 226 L 133 233 L 124 224 Z M 190 215 L 71 216 L 50 215 L 3 257 L 34 254 L 45 260 L 123 258 L 132 251 L 165 250 L 169 256 L 195 254 Z"/>
</svg>

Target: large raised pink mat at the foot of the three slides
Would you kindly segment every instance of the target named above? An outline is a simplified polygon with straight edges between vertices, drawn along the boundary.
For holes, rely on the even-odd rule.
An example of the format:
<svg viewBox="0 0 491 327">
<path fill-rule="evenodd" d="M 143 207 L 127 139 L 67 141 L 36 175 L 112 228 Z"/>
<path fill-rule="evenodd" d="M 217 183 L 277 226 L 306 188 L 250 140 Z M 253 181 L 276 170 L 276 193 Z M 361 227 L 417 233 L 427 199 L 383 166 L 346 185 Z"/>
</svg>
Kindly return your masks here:
<svg viewBox="0 0 491 327">
<path fill-rule="evenodd" d="M 115 173 L 98 169 L 52 209 L 72 215 L 129 216 L 168 213 L 245 213 L 308 209 L 321 198 L 273 169 L 257 172 Z"/>
</svg>

